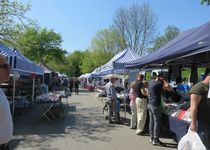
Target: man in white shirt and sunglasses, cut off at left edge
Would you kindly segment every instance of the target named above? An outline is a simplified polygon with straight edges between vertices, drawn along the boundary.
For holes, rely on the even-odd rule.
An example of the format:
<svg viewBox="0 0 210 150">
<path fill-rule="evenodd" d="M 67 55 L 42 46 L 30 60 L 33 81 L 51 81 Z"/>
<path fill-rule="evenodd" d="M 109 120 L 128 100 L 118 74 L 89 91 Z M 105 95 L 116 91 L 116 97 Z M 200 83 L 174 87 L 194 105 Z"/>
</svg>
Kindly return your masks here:
<svg viewBox="0 0 210 150">
<path fill-rule="evenodd" d="M 0 83 L 9 80 L 10 67 L 4 56 L 0 55 Z M 8 142 L 12 139 L 13 122 L 9 102 L 0 88 L 0 150 L 8 150 Z"/>
</svg>

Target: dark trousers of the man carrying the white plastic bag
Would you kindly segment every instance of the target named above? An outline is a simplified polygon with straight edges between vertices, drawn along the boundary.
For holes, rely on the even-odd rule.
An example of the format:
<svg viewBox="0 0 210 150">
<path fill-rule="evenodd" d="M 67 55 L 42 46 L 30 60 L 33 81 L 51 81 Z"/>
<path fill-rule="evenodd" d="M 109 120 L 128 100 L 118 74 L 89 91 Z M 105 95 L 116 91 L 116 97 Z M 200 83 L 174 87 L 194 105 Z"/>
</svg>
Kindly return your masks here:
<svg viewBox="0 0 210 150">
<path fill-rule="evenodd" d="M 210 150 L 210 123 L 198 121 L 198 134 L 205 147 Z"/>
</svg>

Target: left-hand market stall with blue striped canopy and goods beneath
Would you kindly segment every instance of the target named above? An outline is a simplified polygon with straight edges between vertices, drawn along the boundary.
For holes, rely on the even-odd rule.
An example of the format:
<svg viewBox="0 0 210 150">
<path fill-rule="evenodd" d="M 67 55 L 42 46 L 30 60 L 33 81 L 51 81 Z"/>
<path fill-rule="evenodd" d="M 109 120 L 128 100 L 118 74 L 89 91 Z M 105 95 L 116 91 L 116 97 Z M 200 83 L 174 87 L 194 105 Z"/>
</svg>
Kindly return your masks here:
<svg viewBox="0 0 210 150">
<path fill-rule="evenodd" d="M 4 55 L 7 59 L 8 64 L 11 68 L 11 79 L 8 83 L 2 84 L 1 87 L 4 89 L 4 92 L 8 96 L 8 99 L 11 100 L 12 104 L 12 113 L 14 116 L 15 108 L 17 109 L 26 109 L 30 106 L 29 99 L 34 99 L 34 91 L 35 91 L 35 75 L 43 74 L 43 69 L 40 68 L 37 64 L 34 64 L 28 58 L 19 53 L 16 49 L 11 49 L 3 44 L 0 44 L 0 54 Z M 24 82 L 19 82 L 21 76 L 29 76 L 31 84 L 23 85 Z M 18 86 L 22 86 L 27 88 L 27 90 L 23 90 Z M 30 86 L 30 88 L 29 88 Z M 31 89 L 31 90 L 29 90 Z M 30 91 L 30 97 L 23 96 L 21 91 Z M 23 97 L 21 97 L 23 96 Z"/>
</svg>

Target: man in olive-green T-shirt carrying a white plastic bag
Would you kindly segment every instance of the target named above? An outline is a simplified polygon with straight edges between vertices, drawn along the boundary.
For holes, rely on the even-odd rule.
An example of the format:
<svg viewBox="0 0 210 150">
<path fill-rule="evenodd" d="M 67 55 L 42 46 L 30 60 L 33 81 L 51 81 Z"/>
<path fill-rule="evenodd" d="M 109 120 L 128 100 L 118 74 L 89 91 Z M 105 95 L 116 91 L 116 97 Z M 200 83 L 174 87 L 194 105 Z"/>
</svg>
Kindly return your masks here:
<svg viewBox="0 0 210 150">
<path fill-rule="evenodd" d="M 190 90 L 190 129 L 198 132 L 201 141 L 210 150 L 210 97 L 208 95 L 210 73 Z M 208 97 L 207 97 L 208 96 Z"/>
</svg>

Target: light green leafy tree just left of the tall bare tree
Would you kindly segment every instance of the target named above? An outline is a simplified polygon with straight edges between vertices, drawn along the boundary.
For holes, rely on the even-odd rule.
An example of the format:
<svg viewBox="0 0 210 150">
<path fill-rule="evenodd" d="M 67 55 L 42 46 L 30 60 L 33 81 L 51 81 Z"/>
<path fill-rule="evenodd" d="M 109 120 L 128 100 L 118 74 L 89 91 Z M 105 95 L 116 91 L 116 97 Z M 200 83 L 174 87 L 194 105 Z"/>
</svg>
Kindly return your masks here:
<svg viewBox="0 0 210 150">
<path fill-rule="evenodd" d="M 91 50 L 83 52 L 81 73 L 92 72 L 107 63 L 119 51 L 121 49 L 117 45 L 116 35 L 111 29 L 98 31 L 92 39 Z"/>
</svg>

